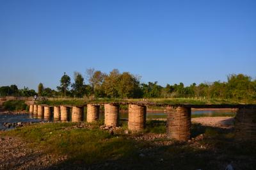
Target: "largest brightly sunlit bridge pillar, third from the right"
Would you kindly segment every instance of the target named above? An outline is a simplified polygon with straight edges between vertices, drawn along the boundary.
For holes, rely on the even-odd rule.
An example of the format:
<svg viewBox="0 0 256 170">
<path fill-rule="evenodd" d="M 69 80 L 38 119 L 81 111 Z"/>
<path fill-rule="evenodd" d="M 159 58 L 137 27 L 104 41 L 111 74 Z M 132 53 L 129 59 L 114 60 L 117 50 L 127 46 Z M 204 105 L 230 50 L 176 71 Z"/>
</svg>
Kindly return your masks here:
<svg viewBox="0 0 256 170">
<path fill-rule="evenodd" d="M 140 131 L 145 128 L 147 107 L 145 105 L 129 104 L 128 129 Z"/>
</svg>

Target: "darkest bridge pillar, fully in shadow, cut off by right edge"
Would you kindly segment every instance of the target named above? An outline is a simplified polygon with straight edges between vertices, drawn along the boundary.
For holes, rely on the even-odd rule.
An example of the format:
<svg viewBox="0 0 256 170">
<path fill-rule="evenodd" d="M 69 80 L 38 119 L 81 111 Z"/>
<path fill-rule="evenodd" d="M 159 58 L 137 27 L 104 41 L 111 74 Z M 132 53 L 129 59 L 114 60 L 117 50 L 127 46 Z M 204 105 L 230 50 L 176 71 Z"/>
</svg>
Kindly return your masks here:
<svg viewBox="0 0 256 170">
<path fill-rule="evenodd" d="M 241 141 L 256 141 L 256 107 L 241 107 L 235 117 L 235 139 Z"/>
</svg>

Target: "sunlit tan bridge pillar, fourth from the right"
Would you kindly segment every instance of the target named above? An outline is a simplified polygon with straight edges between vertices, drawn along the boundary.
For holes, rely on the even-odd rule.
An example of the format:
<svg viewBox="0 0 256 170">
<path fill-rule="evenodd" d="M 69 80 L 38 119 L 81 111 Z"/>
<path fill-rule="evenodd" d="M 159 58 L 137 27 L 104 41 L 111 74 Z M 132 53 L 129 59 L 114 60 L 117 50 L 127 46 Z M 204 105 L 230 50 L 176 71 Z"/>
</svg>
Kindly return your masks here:
<svg viewBox="0 0 256 170">
<path fill-rule="evenodd" d="M 119 121 L 119 105 L 104 104 L 105 125 L 116 127 Z"/>
</svg>

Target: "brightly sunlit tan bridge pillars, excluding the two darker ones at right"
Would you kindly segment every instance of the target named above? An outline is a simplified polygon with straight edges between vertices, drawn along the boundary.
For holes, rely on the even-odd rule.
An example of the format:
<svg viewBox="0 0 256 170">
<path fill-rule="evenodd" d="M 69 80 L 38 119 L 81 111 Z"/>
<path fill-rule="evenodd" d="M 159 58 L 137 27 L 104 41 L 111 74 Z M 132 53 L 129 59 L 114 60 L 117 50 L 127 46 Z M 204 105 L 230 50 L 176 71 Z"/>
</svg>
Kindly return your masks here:
<svg viewBox="0 0 256 170">
<path fill-rule="evenodd" d="M 44 105 L 30 105 L 29 112 L 36 114 L 38 118 L 51 118 L 51 108 Z M 68 121 L 70 108 L 65 105 L 54 106 L 54 120 Z M 89 123 L 99 120 L 100 105 L 87 105 L 87 118 Z M 145 128 L 147 107 L 145 105 L 129 105 L 129 130 L 138 131 Z M 72 107 L 71 121 L 83 120 L 83 107 Z M 104 104 L 104 122 L 107 126 L 116 127 L 119 125 L 119 105 Z"/>
</svg>

